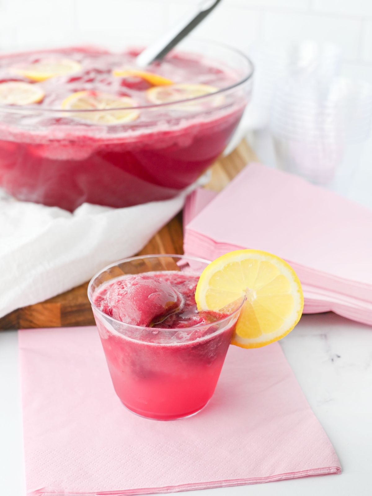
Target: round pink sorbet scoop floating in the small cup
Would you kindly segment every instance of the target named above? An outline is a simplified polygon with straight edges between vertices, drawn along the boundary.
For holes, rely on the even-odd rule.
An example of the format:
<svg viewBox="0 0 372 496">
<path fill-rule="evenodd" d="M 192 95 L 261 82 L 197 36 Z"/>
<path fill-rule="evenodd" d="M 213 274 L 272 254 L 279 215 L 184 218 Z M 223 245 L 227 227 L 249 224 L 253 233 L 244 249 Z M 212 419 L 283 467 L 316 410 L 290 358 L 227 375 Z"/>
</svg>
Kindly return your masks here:
<svg viewBox="0 0 372 496">
<path fill-rule="evenodd" d="M 138 275 L 118 280 L 109 287 L 105 301 L 110 307 L 102 308 L 105 313 L 122 322 L 143 326 L 160 322 L 183 305 L 181 294 L 165 281 Z"/>
</svg>

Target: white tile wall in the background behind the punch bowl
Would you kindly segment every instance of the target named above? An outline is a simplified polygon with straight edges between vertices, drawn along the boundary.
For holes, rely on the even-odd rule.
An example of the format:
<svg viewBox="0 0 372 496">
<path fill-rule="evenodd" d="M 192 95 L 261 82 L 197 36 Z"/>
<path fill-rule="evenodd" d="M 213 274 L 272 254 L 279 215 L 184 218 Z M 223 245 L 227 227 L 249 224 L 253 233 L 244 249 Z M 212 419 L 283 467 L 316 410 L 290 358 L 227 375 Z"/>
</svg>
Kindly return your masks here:
<svg viewBox="0 0 372 496">
<path fill-rule="evenodd" d="M 146 43 L 198 1 L 0 0 L 0 51 Z M 344 49 L 347 72 L 372 75 L 372 0 L 222 0 L 196 34 L 244 51 L 261 41 L 331 41 Z"/>
</svg>

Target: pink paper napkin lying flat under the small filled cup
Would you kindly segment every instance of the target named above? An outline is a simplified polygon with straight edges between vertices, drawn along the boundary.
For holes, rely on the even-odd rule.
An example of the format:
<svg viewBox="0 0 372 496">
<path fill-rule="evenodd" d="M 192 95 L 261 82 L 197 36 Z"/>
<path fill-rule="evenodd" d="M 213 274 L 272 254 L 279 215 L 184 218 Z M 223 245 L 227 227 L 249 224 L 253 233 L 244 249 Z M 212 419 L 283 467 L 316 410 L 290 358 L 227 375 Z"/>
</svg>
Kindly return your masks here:
<svg viewBox="0 0 372 496">
<path fill-rule="evenodd" d="M 207 407 L 157 422 L 117 398 L 95 327 L 18 335 L 29 495 L 175 492 L 341 472 L 277 343 L 231 346 Z"/>
</svg>

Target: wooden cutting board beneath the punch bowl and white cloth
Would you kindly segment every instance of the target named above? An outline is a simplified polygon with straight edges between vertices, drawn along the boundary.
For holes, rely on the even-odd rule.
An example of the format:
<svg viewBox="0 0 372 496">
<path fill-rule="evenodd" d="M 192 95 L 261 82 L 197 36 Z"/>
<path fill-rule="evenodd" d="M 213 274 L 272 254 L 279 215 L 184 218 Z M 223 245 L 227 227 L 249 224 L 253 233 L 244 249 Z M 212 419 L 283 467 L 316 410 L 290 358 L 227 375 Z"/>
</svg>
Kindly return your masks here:
<svg viewBox="0 0 372 496">
<path fill-rule="evenodd" d="M 211 180 L 206 187 L 221 191 L 248 162 L 255 160 L 256 156 L 243 140 L 230 155 L 221 157 L 211 166 Z M 183 253 L 182 213 L 164 226 L 138 254 L 151 253 Z M 88 282 L 43 303 L 14 310 L 0 318 L 0 330 L 93 325 L 87 288 Z"/>
</svg>

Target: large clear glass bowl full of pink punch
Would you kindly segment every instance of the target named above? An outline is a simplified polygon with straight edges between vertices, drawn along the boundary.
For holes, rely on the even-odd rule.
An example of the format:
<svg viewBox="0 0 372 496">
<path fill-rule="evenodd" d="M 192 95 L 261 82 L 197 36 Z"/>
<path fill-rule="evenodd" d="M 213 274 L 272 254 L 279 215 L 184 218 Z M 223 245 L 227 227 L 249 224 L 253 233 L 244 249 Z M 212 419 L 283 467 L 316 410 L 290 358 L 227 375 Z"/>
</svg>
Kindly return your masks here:
<svg viewBox="0 0 372 496">
<path fill-rule="evenodd" d="M 248 59 L 234 50 L 191 45 L 193 53 L 175 52 L 148 69 L 176 83 L 219 90 L 188 105 L 155 105 L 147 93 L 151 83 L 114 75 L 115 69 L 133 66 L 138 49 L 114 54 L 69 48 L 1 56 L 0 86 L 31 82 L 45 97 L 28 106 L 0 105 L 0 187 L 19 200 L 72 211 L 83 202 L 123 207 L 162 200 L 190 185 L 236 129 L 252 74 Z M 65 59 L 80 69 L 36 82 L 27 71 L 19 72 L 40 61 Z M 65 110 L 65 99 L 81 91 L 129 97 L 138 117 L 105 124 Z M 100 113 L 105 110 L 95 111 L 97 117 Z"/>
</svg>

